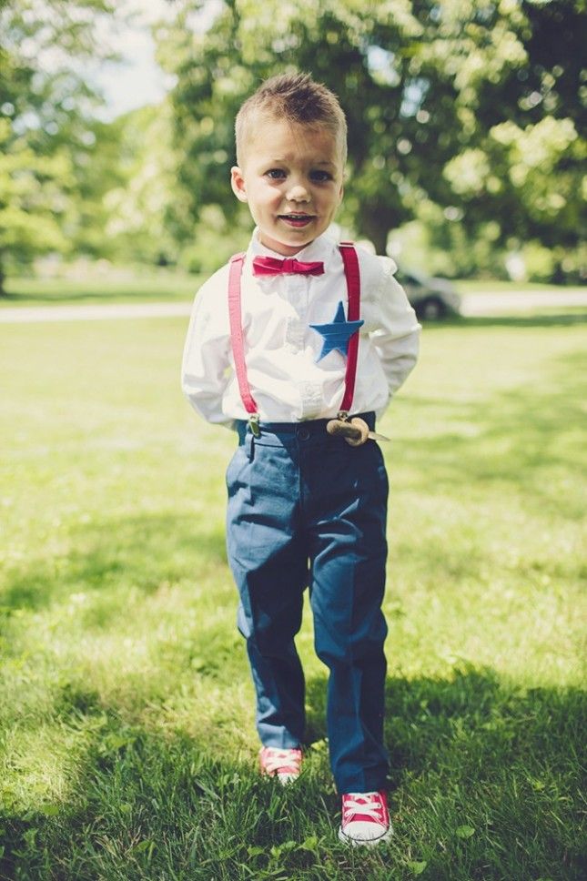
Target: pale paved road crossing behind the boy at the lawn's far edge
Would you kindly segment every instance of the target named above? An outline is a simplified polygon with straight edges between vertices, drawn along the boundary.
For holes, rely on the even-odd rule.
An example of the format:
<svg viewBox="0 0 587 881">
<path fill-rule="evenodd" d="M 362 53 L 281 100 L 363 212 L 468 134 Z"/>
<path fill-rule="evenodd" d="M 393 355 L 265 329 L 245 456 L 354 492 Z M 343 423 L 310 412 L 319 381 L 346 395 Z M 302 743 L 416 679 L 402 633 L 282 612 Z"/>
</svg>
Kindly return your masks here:
<svg viewBox="0 0 587 881">
<path fill-rule="evenodd" d="M 520 290 L 516 293 L 467 294 L 462 298 L 465 316 L 528 314 L 540 309 L 587 309 L 587 289 L 550 292 Z M 22 306 L 0 309 L 0 323 L 25 321 L 103 321 L 108 319 L 183 318 L 191 303 L 96 303 L 82 306 Z"/>
</svg>

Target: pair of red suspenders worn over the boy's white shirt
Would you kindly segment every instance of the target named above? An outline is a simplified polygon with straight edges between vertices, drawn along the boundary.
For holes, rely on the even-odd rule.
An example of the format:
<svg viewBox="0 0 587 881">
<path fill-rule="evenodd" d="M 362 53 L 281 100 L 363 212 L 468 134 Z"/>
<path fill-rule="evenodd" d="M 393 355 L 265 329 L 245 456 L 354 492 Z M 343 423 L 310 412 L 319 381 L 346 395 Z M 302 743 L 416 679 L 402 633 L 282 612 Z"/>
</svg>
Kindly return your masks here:
<svg viewBox="0 0 587 881">
<path fill-rule="evenodd" d="M 349 307 L 347 320 L 358 321 L 360 316 L 360 274 L 359 258 L 352 242 L 340 242 L 340 254 L 344 263 L 347 290 L 349 294 Z M 244 254 L 235 254 L 230 258 L 230 270 L 228 275 L 228 318 L 230 320 L 230 341 L 232 354 L 237 373 L 238 390 L 245 410 L 250 417 L 253 433 L 258 424 L 258 409 L 253 398 L 247 379 L 247 364 L 245 362 L 245 344 L 243 340 L 242 315 L 240 305 L 240 277 L 242 275 Z M 355 392 L 355 377 L 357 375 L 357 358 L 359 356 L 359 330 L 349 339 L 349 353 L 347 355 L 347 372 L 345 375 L 345 392 L 340 403 L 339 419 L 346 419 L 349 415 Z"/>
</svg>

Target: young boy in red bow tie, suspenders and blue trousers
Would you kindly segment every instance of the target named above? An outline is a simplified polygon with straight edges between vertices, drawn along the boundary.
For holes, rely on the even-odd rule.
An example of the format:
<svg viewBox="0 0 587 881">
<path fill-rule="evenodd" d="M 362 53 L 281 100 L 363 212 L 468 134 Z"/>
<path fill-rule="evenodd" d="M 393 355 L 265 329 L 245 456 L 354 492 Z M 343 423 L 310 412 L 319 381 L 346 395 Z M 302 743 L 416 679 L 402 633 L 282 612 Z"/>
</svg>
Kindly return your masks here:
<svg viewBox="0 0 587 881">
<path fill-rule="evenodd" d="M 388 481 L 369 432 L 414 366 L 420 327 L 389 258 L 329 237 L 347 127 L 307 75 L 269 79 L 241 107 L 231 184 L 257 224 L 246 255 L 200 289 L 183 389 L 238 432 L 228 465 L 228 560 L 257 694 L 261 770 L 299 775 L 304 676 L 294 637 L 309 586 L 329 667 L 339 837 L 391 835 L 383 701 Z M 349 414 L 357 414 L 351 421 Z"/>
</svg>

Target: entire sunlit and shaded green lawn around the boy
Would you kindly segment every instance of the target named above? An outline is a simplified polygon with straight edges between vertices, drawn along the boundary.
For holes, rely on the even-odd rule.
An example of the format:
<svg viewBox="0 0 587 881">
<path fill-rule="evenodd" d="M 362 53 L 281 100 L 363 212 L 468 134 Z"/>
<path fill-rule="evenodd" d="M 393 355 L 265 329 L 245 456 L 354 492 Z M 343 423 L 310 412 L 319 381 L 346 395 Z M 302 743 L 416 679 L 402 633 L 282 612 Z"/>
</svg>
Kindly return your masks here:
<svg viewBox="0 0 587 881">
<path fill-rule="evenodd" d="M 381 423 L 396 835 L 367 854 L 336 837 L 309 616 L 306 771 L 258 779 L 234 439 L 181 398 L 186 323 L 2 331 L 0 878 L 584 877 L 581 319 L 426 329 Z"/>
</svg>

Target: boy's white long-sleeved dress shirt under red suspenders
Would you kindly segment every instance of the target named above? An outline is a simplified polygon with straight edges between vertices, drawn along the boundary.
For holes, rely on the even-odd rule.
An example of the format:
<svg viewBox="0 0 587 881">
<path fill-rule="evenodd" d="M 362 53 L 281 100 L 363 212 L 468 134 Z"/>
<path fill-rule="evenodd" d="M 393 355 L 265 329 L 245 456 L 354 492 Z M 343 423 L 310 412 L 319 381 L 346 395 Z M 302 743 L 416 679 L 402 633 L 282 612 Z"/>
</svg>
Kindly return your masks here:
<svg viewBox="0 0 587 881">
<path fill-rule="evenodd" d="M 360 269 L 359 359 L 351 413 L 380 415 L 412 370 L 420 325 L 393 260 L 357 248 Z M 261 423 L 335 417 L 345 390 L 346 356 L 338 349 L 320 359 L 324 338 L 310 328 L 334 320 L 339 302 L 348 318 L 344 265 L 334 238 L 324 233 L 296 254 L 321 260 L 319 276 L 254 276 L 253 258 L 283 258 L 265 248 L 256 229 L 241 278 L 242 327 L 248 384 Z M 182 388 L 209 422 L 248 419 L 234 370 L 228 320 L 228 268 L 218 269 L 194 302 L 182 366 Z"/>
</svg>

